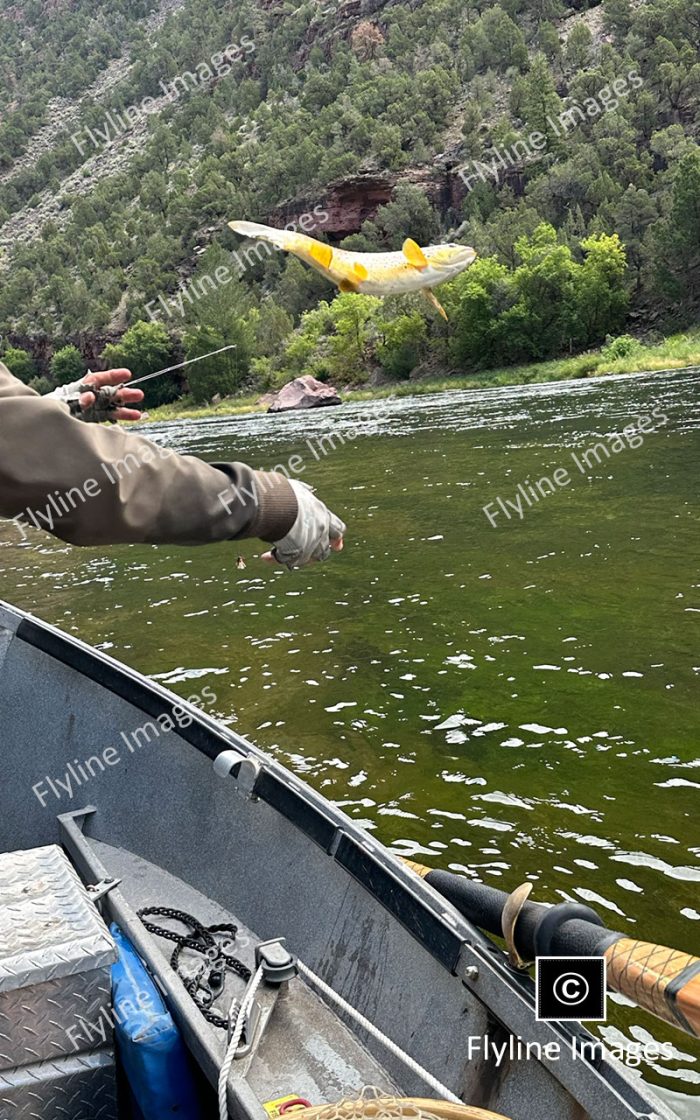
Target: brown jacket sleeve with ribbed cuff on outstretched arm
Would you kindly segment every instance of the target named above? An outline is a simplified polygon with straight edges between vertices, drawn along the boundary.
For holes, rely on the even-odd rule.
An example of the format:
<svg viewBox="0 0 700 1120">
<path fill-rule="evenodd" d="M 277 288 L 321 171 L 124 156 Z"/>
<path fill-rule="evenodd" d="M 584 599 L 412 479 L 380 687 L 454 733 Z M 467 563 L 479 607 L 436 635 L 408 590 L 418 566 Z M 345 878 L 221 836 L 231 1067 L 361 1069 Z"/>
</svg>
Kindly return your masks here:
<svg viewBox="0 0 700 1120">
<path fill-rule="evenodd" d="M 281 474 L 177 455 L 87 424 L 0 362 L 0 516 L 72 544 L 279 541 L 297 517 Z"/>
</svg>

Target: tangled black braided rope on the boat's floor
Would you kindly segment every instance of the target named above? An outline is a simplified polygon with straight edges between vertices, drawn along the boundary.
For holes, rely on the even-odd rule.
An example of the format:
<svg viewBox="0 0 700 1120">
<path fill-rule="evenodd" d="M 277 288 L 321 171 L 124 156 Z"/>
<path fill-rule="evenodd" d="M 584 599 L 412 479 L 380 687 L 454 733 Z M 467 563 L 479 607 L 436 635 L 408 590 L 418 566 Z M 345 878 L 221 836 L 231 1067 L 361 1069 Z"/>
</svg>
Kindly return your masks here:
<svg viewBox="0 0 700 1120">
<path fill-rule="evenodd" d="M 187 925 L 190 928 L 189 933 L 178 933 L 176 930 L 168 930 L 167 926 L 156 925 L 155 922 L 148 922 L 146 915 L 158 915 L 160 917 L 169 917 L 176 922 L 181 922 L 183 925 Z M 185 988 L 192 996 L 193 1000 L 202 1011 L 203 1016 L 211 1023 L 214 1027 L 220 1027 L 226 1030 L 228 1027 L 228 1018 L 224 1018 L 222 1015 L 217 1015 L 216 1011 L 212 1010 L 212 1004 L 215 999 L 215 993 L 212 991 L 212 984 L 214 979 L 218 981 L 217 988 L 218 992 L 223 989 L 223 974 L 226 969 L 235 972 L 243 980 L 248 981 L 251 978 L 251 970 L 248 968 L 243 961 L 240 961 L 237 956 L 234 956 L 221 944 L 215 934 L 226 933 L 228 934 L 227 941 L 234 942 L 239 932 L 237 925 L 222 924 L 222 925 L 208 925 L 205 926 L 202 922 L 198 922 L 196 917 L 192 914 L 187 914 L 185 911 L 174 909 L 170 906 L 144 906 L 138 912 L 141 922 L 149 931 L 149 933 L 155 933 L 158 937 L 165 937 L 167 941 L 175 942 L 175 949 L 172 950 L 172 955 L 170 956 L 170 967 L 175 969 L 180 980 L 185 984 Z M 206 958 L 205 962 L 196 976 L 187 976 L 183 972 L 180 964 L 180 953 L 183 949 L 189 949 L 195 953 L 199 953 L 202 956 Z M 206 973 L 206 983 L 204 982 L 204 974 Z"/>
</svg>

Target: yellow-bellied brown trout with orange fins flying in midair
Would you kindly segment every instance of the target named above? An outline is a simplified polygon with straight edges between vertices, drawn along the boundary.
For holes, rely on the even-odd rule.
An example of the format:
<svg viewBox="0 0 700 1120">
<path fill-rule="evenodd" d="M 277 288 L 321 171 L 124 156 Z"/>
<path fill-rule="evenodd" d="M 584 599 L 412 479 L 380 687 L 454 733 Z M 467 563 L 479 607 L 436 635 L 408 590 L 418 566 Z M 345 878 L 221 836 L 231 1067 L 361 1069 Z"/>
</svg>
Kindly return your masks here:
<svg viewBox="0 0 700 1120">
<path fill-rule="evenodd" d="M 228 225 L 244 237 L 259 237 L 295 253 L 340 291 L 360 291 L 365 296 L 422 291 L 444 319 L 447 318 L 445 308 L 432 289 L 459 276 L 476 260 L 476 252 L 468 245 L 426 245 L 421 249 L 409 237 L 400 253 L 356 253 L 351 249 L 333 249 L 305 233 L 273 230 L 256 222 L 230 222 Z"/>
</svg>

